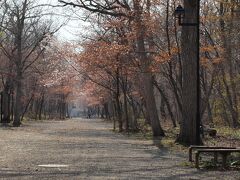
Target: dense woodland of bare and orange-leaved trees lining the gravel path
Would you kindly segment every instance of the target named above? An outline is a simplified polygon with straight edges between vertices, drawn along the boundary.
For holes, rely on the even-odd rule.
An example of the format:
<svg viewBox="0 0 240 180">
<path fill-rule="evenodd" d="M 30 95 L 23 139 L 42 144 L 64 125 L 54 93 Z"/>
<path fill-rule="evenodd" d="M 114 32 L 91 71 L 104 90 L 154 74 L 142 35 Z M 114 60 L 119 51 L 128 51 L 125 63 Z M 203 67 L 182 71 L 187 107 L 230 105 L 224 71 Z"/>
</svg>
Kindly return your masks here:
<svg viewBox="0 0 240 180">
<path fill-rule="evenodd" d="M 197 0 L 83 0 L 39 4 L 0 1 L 1 123 L 64 119 L 73 100 L 112 120 L 114 129 L 164 136 L 164 122 L 180 127 L 178 141 L 196 144 Z M 45 8 L 74 12 L 87 23 L 75 42 L 62 42 L 62 24 Z M 56 15 L 55 15 L 56 16 Z M 203 127 L 240 126 L 240 2 L 200 4 L 200 115 Z"/>
</svg>

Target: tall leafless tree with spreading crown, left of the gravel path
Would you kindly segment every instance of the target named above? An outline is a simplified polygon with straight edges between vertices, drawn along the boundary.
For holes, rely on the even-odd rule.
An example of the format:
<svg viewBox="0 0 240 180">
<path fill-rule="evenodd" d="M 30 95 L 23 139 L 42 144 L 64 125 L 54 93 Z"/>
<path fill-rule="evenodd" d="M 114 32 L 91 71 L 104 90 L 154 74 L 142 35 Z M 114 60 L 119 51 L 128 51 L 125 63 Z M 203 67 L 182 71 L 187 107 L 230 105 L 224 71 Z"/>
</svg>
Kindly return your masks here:
<svg viewBox="0 0 240 180">
<path fill-rule="evenodd" d="M 6 1 L 4 3 L 6 16 L 1 29 L 4 35 L 0 47 L 9 59 L 14 72 L 15 88 L 14 126 L 21 124 L 23 112 L 23 80 L 24 73 L 42 55 L 45 50 L 41 46 L 43 40 L 53 34 L 50 31 L 52 23 L 42 19 L 41 9 L 34 1 Z"/>
</svg>

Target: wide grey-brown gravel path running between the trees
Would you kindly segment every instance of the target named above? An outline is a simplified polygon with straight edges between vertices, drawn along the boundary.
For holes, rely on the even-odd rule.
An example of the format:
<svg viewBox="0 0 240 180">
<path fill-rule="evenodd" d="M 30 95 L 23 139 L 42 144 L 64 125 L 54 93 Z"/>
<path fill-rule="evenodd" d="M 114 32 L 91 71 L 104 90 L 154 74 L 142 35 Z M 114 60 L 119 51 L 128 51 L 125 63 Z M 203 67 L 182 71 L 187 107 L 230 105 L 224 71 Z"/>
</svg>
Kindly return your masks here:
<svg viewBox="0 0 240 180">
<path fill-rule="evenodd" d="M 99 119 L 27 121 L 0 127 L 0 179 L 239 179 L 240 172 L 197 170 L 187 152 L 111 131 Z"/>
</svg>

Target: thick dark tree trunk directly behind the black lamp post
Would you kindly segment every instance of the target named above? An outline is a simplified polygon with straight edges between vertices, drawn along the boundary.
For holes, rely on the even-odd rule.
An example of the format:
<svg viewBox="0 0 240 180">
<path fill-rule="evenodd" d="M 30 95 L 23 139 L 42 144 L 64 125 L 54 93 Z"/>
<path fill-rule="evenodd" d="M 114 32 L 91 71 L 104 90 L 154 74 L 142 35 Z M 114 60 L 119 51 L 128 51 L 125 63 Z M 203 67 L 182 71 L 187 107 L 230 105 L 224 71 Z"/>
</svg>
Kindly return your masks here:
<svg viewBox="0 0 240 180">
<path fill-rule="evenodd" d="M 185 23 L 198 22 L 198 1 L 184 0 Z M 182 26 L 182 59 L 183 59 L 183 89 L 182 89 L 182 121 L 177 141 L 185 145 L 199 145 L 197 132 L 197 83 L 198 83 L 198 48 L 199 27 Z"/>
</svg>

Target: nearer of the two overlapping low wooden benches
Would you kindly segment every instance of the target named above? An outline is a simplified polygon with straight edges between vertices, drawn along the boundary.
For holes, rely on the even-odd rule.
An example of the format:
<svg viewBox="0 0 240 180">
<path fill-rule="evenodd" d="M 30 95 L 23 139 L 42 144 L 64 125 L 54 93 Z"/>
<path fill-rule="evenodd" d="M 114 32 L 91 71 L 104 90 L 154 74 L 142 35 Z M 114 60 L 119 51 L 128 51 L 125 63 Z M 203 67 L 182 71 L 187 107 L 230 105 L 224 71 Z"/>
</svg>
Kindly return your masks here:
<svg viewBox="0 0 240 180">
<path fill-rule="evenodd" d="M 226 167 L 226 163 L 227 163 L 227 157 L 228 155 L 230 155 L 231 153 L 235 153 L 235 152 L 239 152 L 240 153 L 240 149 L 234 148 L 234 149 L 197 149 L 196 150 L 196 154 L 195 154 L 195 167 L 199 168 L 199 157 L 201 153 L 213 153 L 214 154 L 214 164 L 217 164 L 217 158 L 218 158 L 218 154 L 221 154 L 222 156 L 222 167 L 225 168 Z"/>
</svg>

